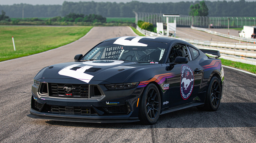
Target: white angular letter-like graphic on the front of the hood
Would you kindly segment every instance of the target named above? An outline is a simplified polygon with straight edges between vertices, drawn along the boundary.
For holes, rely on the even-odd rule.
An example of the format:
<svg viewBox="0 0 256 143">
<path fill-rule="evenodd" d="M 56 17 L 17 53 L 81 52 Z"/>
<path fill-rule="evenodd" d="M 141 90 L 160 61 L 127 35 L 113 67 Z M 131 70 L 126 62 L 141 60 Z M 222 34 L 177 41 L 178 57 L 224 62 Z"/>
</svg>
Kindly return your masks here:
<svg viewBox="0 0 256 143">
<path fill-rule="evenodd" d="M 87 69 L 92 68 L 92 66 L 83 66 L 83 67 L 77 69 L 76 71 L 70 70 L 70 69 L 72 69 L 72 68 L 74 68 L 76 66 L 80 66 L 80 64 L 74 64 L 74 65 L 68 66 L 68 67 L 60 70 L 58 73 L 60 75 L 73 77 L 73 78 L 79 79 L 79 80 L 81 80 L 83 82 L 89 83 L 90 80 L 94 76 L 90 75 L 90 74 L 87 74 L 87 73 L 84 73 L 84 71 L 86 71 Z"/>
</svg>

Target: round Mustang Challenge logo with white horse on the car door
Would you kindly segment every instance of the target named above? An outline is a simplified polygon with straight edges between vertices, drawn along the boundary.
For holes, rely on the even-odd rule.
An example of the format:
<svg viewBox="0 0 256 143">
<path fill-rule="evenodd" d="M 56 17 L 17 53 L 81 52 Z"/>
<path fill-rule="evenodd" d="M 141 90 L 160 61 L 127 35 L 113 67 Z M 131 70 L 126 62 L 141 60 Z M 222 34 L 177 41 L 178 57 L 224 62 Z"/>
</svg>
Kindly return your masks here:
<svg viewBox="0 0 256 143">
<path fill-rule="evenodd" d="M 193 70 L 187 65 L 181 67 L 181 97 L 186 100 L 191 95 L 194 87 Z"/>
</svg>

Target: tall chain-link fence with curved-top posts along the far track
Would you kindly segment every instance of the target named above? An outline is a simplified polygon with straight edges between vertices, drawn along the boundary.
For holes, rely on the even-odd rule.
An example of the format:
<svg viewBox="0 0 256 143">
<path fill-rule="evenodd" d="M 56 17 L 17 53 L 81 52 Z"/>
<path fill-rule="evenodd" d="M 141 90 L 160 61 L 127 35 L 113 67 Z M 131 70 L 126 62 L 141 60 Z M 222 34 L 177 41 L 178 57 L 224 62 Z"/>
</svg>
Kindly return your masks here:
<svg viewBox="0 0 256 143">
<path fill-rule="evenodd" d="M 136 24 L 138 21 L 150 22 L 156 24 L 157 22 L 166 23 L 166 18 L 162 13 L 151 12 L 134 12 Z M 169 17 L 169 23 L 174 22 L 174 17 Z M 254 17 L 208 17 L 208 16 L 188 16 L 180 15 L 176 18 L 178 27 L 213 27 L 213 28 L 227 28 L 229 27 L 243 27 L 244 25 L 255 26 Z"/>
</svg>

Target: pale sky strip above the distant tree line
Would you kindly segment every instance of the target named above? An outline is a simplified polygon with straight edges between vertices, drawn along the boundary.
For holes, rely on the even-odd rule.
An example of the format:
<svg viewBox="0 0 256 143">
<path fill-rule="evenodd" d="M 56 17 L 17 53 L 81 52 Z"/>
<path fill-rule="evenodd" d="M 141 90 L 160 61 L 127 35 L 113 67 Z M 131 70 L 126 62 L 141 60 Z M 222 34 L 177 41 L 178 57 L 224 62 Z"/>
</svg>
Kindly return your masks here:
<svg viewBox="0 0 256 143">
<path fill-rule="evenodd" d="M 31 4 L 31 5 L 62 5 L 64 1 L 68 2 L 88 2 L 92 0 L 0 0 L 0 5 L 13 5 L 13 4 Z M 95 2 L 131 2 L 133 0 L 93 0 Z M 139 2 L 148 2 L 148 3 L 163 3 L 163 2 L 181 2 L 181 1 L 196 1 L 196 0 L 136 0 Z M 200 0 L 201 1 L 201 0 Z M 208 1 L 218 1 L 218 0 L 208 0 Z M 223 1 L 223 0 L 220 0 Z M 231 1 L 231 0 L 226 0 Z M 233 1 L 239 1 L 239 0 L 233 0 Z M 256 1 L 256 0 L 245 0 L 245 1 Z"/>
</svg>

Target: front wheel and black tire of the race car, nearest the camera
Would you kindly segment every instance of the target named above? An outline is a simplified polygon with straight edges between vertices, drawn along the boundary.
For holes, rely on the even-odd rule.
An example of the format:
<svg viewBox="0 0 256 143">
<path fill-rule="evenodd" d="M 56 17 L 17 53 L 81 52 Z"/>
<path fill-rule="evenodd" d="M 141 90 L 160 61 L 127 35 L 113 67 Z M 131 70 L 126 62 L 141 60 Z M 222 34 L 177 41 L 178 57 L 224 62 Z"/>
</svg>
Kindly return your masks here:
<svg viewBox="0 0 256 143">
<path fill-rule="evenodd" d="M 156 85 L 149 84 L 141 97 L 139 106 L 139 120 L 142 124 L 155 124 L 161 109 L 160 93 Z"/>
</svg>

